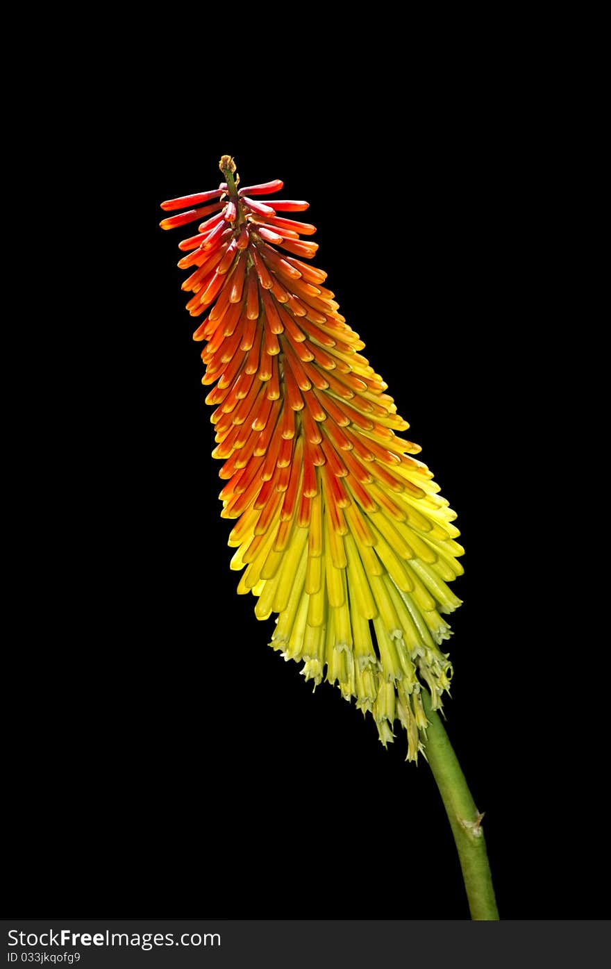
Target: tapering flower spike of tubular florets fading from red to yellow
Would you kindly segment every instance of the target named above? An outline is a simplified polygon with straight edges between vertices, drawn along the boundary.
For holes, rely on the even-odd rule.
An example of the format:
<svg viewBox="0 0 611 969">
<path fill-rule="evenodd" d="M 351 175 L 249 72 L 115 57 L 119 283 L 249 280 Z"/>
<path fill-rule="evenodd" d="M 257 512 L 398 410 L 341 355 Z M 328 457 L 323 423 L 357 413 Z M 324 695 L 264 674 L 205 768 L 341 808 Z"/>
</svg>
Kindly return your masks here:
<svg viewBox="0 0 611 969">
<path fill-rule="evenodd" d="M 306 679 L 337 683 L 373 715 L 384 746 L 398 721 L 415 761 L 421 686 L 439 709 L 452 672 L 441 647 L 443 616 L 460 605 L 447 585 L 463 572 L 455 514 L 399 436 L 409 424 L 326 274 L 304 262 L 318 244 L 300 236 L 315 227 L 278 214 L 308 203 L 269 199 L 279 179 L 238 190 L 229 155 L 220 168 L 218 189 L 162 203 L 187 210 L 161 226 L 212 216 L 179 244 L 178 265 L 190 270 L 187 309 L 206 314 L 194 339 L 206 341 L 202 383 L 215 385 L 206 401 L 237 591 L 256 597 L 259 619 L 277 614 L 271 645 Z"/>
</svg>

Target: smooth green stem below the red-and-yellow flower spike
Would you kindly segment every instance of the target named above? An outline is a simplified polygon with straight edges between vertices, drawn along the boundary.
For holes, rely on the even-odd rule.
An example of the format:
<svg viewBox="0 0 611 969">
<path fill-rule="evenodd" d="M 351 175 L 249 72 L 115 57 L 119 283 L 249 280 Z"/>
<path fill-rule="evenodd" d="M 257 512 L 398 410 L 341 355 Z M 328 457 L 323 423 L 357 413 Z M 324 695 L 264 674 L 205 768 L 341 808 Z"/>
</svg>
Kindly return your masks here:
<svg viewBox="0 0 611 969">
<path fill-rule="evenodd" d="M 471 917 L 480 922 L 496 921 L 499 911 L 481 828 L 482 815 L 475 807 L 465 775 L 426 690 L 422 690 L 422 700 L 431 722 L 426 732 L 426 757 L 440 789 L 458 849 Z"/>
</svg>

